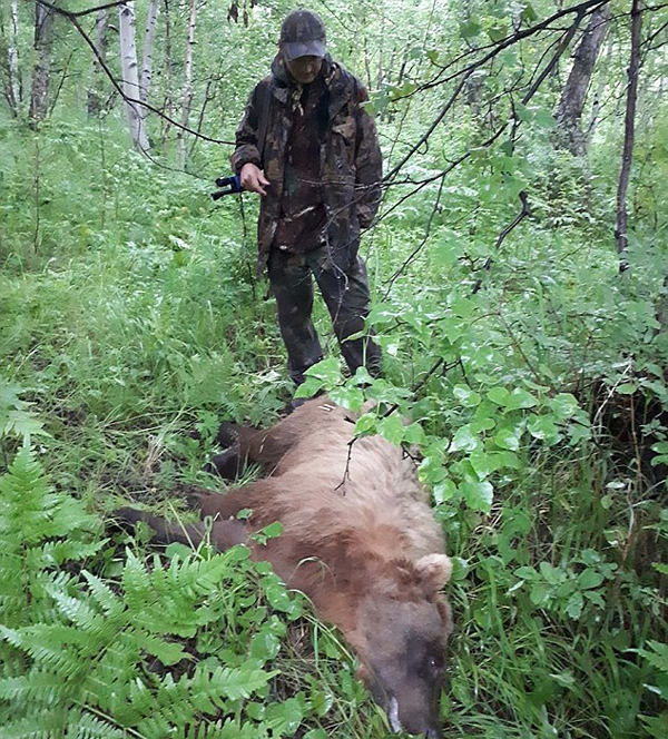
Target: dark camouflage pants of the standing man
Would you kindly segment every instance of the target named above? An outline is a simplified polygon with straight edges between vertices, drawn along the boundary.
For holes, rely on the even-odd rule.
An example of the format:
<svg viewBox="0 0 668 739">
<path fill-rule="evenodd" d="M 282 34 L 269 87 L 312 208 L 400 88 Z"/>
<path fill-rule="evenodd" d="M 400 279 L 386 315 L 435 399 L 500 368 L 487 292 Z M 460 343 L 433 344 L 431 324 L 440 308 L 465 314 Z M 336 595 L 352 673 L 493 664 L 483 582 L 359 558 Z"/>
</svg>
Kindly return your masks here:
<svg viewBox="0 0 668 739">
<path fill-rule="evenodd" d="M 345 270 L 325 269 L 324 249 L 307 254 L 287 254 L 272 249 L 269 283 L 276 297 L 278 325 L 287 349 L 287 371 L 296 385 L 304 372 L 323 358 L 323 351 L 311 318 L 313 277 L 325 300 L 341 353 L 352 374 L 366 366 L 372 376 L 381 368 L 381 348 L 370 336 L 346 341 L 364 328 L 370 293 L 366 267 L 356 256 Z"/>
</svg>

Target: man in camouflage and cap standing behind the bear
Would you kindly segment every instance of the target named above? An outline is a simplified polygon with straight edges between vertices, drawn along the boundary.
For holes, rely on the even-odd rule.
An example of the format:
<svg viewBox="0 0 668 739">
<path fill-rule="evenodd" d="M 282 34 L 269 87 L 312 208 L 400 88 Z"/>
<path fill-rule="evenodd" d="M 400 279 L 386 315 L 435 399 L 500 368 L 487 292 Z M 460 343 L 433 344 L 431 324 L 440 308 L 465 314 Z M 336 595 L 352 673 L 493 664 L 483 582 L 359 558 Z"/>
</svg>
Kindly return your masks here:
<svg viewBox="0 0 668 739">
<path fill-rule="evenodd" d="M 262 197 L 258 272 L 268 267 L 296 385 L 323 358 L 311 318 L 313 277 L 346 364 L 377 375 L 381 349 L 364 328 L 370 293 L 360 229 L 377 210 L 382 160 L 362 83 L 325 50 L 325 27 L 307 10 L 281 27 L 272 73 L 250 93 L 232 156 L 242 186 Z"/>
</svg>

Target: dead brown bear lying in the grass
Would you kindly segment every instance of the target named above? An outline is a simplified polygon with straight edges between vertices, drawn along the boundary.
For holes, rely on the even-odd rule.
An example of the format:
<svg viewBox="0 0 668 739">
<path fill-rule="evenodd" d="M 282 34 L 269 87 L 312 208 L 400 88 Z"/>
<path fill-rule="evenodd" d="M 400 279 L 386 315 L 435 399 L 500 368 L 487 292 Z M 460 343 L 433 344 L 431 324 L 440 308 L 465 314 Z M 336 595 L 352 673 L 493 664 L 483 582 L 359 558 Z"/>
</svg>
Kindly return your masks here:
<svg viewBox="0 0 668 739">
<path fill-rule="evenodd" d="M 441 589 L 451 563 L 415 465 L 380 436 L 353 439 L 350 414 L 310 401 L 268 431 L 238 430 L 239 451 L 271 475 L 224 495 L 203 494 L 219 549 L 246 543 L 289 588 L 313 601 L 318 615 L 343 632 L 358 676 L 395 731 L 441 736 L 438 710 L 452 630 Z M 235 519 L 252 509 L 246 521 Z M 186 528 L 130 509 L 163 541 L 198 541 Z M 249 534 L 274 522 L 283 535 L 265 545 Z"/>
</svg>

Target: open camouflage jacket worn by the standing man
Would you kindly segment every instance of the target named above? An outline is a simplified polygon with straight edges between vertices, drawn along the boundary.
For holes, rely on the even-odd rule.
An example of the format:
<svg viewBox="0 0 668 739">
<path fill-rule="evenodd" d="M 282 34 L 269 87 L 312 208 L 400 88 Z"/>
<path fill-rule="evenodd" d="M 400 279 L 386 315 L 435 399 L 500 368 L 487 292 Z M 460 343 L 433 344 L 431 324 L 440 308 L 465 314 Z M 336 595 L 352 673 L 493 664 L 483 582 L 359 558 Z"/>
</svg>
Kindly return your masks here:
<svg viewBox="0 0 668 739">
<path fill-rule="evenodd" d="M 328 120 L 321 145 L 320 167 L 327 216 L 325 245 L 328 256 L 324 266 L 346 269 L 357 252 L 360 229 L 371 225 L 379 207 L 382 159 L 375 125 L 361 105 L 367 100 L 366 90 L 337 62 L 326 58 L 324 65 L 328 95 Z M 266 266 L 281 216 L 285 149 L 292 127 L 291 96 L 299 92 L 301 88 L 289 77 L 278 53 L 272 65 L 272 75 L 250 93 L 236 134 L 236 149 L 232 155 L 234 171 L 238 174 L 245 164 L 253 162 L 264 169 L 269 180 L 259 209 L 258 273 Z M 271 96 L 268 121 L 261 159 L 259 117 L 267 93 Z"/>
</svg>

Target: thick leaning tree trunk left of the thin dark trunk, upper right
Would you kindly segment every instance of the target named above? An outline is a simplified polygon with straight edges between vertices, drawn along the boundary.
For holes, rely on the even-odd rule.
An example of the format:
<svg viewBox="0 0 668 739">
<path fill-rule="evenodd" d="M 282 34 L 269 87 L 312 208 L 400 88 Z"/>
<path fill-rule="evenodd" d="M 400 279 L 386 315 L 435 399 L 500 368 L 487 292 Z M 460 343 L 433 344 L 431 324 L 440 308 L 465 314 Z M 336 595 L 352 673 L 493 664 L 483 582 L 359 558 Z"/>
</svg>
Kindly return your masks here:
<svg viewBox="0 0 668 739">
<path fill-rule="evenodd" d="M 586 139 L 580 127 L 582 109 L 589 89 L 593 67 L 598 58 L 608 21 L 610 6 L 597 8 L 589 19 L 589 24 L 576 50 L 573 66 L 557 107 L 557 145 L 568 149 L 574 156 L 586 152 Z"/>
</svg>

